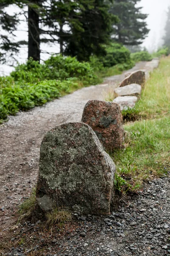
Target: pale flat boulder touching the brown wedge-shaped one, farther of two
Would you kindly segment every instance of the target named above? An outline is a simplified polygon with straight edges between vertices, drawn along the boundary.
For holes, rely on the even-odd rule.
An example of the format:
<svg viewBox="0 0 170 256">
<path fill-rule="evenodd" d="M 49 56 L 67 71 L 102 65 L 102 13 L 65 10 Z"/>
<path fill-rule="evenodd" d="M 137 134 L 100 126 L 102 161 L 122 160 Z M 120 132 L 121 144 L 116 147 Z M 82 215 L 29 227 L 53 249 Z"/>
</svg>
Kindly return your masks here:
<svg viewBox="0 0 170 256">
<path fill-rule="evenodd" d="M 142 87 L 139 84 L 129 84 L 123 87 L 118 87 L 114 90 L 116 97 L 118 96 L 136 96 L 141 95 Z"/>
</svg>

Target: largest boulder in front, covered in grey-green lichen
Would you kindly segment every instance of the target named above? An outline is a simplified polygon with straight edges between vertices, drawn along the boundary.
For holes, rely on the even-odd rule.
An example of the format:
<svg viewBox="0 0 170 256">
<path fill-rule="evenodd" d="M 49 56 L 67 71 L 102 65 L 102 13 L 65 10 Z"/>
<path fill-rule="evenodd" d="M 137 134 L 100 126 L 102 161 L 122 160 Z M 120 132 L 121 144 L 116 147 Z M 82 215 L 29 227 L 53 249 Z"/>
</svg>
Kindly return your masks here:
<svg viewBox="0 0 170 256">
<path fill-rule="evenodd" d="M 40 148 L 37 204 L 109 214 L 115 165 L 94 131 L 81 122 L 57 125 Z"/>
</svg>

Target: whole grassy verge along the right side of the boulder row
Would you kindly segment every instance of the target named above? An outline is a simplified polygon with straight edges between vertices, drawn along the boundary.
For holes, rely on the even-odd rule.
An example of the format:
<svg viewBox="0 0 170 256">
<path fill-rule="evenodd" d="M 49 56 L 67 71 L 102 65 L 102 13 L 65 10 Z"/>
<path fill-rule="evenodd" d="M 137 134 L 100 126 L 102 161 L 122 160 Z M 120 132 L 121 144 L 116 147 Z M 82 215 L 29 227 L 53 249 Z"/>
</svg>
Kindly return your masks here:
<svg viewBox="0 0 170 256">
<path fill-rule="evenodd" d="M 112 155 L 116 188 L 136 191 L 146 178 L 170 171 L 170 58 L 161 59 L 136 104 L 141 119 L 127 123 L 126 148 Z"/>
</svg>

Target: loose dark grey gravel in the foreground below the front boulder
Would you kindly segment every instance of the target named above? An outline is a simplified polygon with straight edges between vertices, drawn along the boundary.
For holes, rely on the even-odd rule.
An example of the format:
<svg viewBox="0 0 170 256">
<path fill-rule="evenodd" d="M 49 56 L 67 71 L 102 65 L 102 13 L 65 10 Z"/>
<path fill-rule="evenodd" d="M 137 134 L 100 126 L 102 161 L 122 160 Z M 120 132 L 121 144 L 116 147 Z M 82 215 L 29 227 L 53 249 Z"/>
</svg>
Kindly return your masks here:
<svg viewBox="0 0 170 256">
<path fill-rule="evenodd" d="M 148 181 L 139 195 L 126 200 L 112 215 L 74 213 L 74 218 L 62 234 L 48 236 L 39 224 L 24 223 L 20 233 L 27 234 L 26 244 L 9 247 L 6 255 L 170 256 L 170 172 Z M 30 228 L 32 232 L 26 233 Z M 15 239 L 14 235 L 11 240 Z"/>
</svg>

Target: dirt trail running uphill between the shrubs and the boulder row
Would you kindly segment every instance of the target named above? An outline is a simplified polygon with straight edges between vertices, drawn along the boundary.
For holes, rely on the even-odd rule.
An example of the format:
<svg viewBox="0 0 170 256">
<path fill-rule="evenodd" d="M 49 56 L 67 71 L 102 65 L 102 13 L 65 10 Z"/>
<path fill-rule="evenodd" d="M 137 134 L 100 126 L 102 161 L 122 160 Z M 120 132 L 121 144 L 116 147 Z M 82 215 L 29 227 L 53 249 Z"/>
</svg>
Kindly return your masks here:
<svg viewBox="0 0 170 256">
<path fill-rule="evenodd" d="M 149 66 L 148 62 L 140 62 L 129 71 Z M 103 84 L 20 112 L 0 126 L 0 230 L 9 226 L 17 205 L 29 196 L 36 183 L 40 143 L 45 132 L 63 122 L 80 121 L 85 103 L 105 99 L 124 77 L 124 73 L 109 77 Z"/>
</svg>

